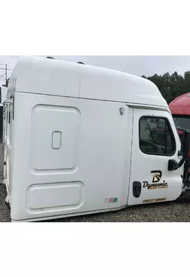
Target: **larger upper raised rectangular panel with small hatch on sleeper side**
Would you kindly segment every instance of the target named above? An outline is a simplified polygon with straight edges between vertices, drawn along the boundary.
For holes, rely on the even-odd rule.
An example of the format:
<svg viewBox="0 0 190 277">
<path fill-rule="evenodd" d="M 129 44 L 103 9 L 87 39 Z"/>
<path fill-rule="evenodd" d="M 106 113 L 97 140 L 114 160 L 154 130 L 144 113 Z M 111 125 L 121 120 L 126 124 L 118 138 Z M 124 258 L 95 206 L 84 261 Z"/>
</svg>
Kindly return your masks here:
<svg viewBox="0 0 190 277">
<path fill-rule="evenodd" d="M 32 109 L 32 170 L 75 170 L 79 127 L 80 112 L 75 107 L 35 106 Z"/>
</svg>

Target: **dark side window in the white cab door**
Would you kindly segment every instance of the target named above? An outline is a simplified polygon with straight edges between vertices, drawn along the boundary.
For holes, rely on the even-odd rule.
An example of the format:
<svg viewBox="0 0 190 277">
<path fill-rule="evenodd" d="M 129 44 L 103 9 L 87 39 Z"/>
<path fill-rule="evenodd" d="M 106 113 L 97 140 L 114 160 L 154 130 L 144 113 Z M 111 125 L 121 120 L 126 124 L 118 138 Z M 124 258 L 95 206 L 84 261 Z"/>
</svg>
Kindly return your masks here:
<svg viewBox="0 0 190 277">
<path fill-rule="evenodd" d="M 167 118 L 140 118 L 140 150 L 145 154 L 172 156 L 175 138 Z"/>
</svg>

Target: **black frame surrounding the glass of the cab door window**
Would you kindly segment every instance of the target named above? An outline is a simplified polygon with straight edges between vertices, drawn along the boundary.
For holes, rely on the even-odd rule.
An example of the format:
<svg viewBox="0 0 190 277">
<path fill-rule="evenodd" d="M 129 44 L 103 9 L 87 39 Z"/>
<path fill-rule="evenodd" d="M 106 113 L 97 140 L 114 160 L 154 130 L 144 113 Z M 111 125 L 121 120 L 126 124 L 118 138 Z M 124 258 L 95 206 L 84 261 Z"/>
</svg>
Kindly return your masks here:
<svg viewBox="0 0 190 277">
<path fill-rule="evenodd" d="M 141 145 L 140 145 L 140 122 L 142 120 L 142 118 L 159 118 L 159 119 L 164 119 L 165 120 L 165 124 L 168 124 L 168 129 L 169 132 L 171 133 L 171 142 L 173 143 L 173 151 L 170 154 L 158 154 L 158 153 L 146 153 L 142 150 Z M 167 127 L 167 125 L 165 125 L 165 128 Z M 167 143 L 167 141 L 166 141 Z M 139 119 L 139 148 L 141 150 L 142 153 L 146 154 L 146 155 L 151 155 L 151 156 L 162 156 L 162 157 L 172 157 L 175 153 L 176 153 L 176 141 L 175 141 L 175 135 L 173 134 L 173 129 L 171 127 L 171 124 L 169 122 L 169 119 L 167 117 L 164 116 L 141 116 Z M 166 149 L 167 149 L 167 144 L 166 144 Z"/>
</svg>

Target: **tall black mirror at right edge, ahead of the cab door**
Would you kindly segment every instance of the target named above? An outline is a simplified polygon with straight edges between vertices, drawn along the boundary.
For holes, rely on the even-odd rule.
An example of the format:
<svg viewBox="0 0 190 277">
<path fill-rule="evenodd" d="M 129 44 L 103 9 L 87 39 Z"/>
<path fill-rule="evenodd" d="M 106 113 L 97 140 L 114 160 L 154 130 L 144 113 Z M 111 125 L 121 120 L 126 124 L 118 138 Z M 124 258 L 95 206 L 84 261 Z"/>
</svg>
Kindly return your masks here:
<svg viewBox="0 0 190 277">
<path fill-rule="evenodd" d="M 190 132 L 187 130 L 182 130 L 182 142 L 181 142 L 181 149 L 178 153 L 178 156 L 181 156 L 182 159 L 178 163 L 178 168 L 180 168 L 184 161 L 187 161 L 188 154 L 189 154 L 189 147 L 190 147 Z"/>
</svg>

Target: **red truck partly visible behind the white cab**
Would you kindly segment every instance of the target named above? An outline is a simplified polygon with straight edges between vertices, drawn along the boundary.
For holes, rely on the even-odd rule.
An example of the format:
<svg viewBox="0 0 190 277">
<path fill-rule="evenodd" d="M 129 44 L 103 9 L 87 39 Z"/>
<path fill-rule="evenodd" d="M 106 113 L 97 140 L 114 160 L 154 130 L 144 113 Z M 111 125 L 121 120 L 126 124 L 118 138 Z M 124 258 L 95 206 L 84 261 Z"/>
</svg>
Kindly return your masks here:
<svg viewBox="0 0 190 277">
<path fill-rule="evenodd" d="M 173 116 L 175 126 L 178 129 L 178 134 L 180 139 L 182 139 L 181 129 L 186 129 L 190 131 L 190 92 L 184 93 L 178 98 L 175 98 L 170 104 L 169 109 Z M 189 150 L 189 160 L 186 163 L 186 169 L 188 172 L 188 180 L 190 180 L 190 150 Z"/>
</svg>

